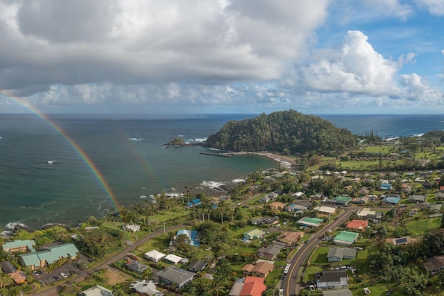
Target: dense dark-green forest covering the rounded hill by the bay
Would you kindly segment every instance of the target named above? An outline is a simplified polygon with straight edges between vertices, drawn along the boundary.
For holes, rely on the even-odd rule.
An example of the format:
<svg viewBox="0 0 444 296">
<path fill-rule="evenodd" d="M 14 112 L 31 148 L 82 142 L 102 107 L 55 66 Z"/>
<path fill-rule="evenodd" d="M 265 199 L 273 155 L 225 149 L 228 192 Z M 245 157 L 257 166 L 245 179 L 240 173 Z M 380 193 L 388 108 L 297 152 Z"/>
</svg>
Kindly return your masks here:
<svg viewBox="0 0 444 296">
<path fill-rule="evenodd" d="M 228 121 L 205 146 L 230 151 L 338 155 L 357 145 L 357 137 L 330 121 L 294 110 Z"/>
</svg>

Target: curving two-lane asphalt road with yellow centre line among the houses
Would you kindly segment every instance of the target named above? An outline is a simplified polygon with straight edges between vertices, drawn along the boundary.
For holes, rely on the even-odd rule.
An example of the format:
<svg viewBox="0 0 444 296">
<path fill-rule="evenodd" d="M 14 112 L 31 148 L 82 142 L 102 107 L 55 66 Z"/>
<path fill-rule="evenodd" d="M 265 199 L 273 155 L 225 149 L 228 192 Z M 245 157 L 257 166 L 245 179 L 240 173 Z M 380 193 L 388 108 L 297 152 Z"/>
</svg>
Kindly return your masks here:
<svg viewBox="0 0 444 296">
<path fill-rule="evenodd" d="M 320 232 L 316 232 L 311 236 L 309 243 L 301 245 L 298 252 L 293 256 L 290 263 L 290 270 L 287 274 L 287 279 L 281 282 L 280 287 L 284 290 L 284 295 L 296 296 L 299 295 L 299 290 L 302 288 L 299 284 L 299 275 L 301 275 L 301 269 L 304 268 L 304 262 L 309 256 L 311 250 L 321 241 L 321 237 L 330 229 L 334 229 L 341 225 L 353 212 L 357 211 L 356 208 L 348 207 L 344 209 L 344 212 L 330 224 L 326 225 Z M 301 275 L 302 278 L 302 275 Z"/>
</svg>

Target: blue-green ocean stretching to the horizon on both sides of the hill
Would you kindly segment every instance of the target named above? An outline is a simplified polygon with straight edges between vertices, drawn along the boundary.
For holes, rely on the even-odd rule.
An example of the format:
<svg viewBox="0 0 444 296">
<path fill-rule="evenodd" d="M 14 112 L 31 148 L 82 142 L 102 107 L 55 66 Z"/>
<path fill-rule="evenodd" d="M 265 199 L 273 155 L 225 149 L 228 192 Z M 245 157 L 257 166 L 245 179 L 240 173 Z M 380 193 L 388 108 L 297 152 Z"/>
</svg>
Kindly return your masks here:
<svg viewBox="0 0 444 296">
<path fill-rule="evenodd" d="M 154 193 L 186 192 L 204 181 L 231 182 L 277 167 L 258 155 L 212 157 L 200 146 L 163 148 L 174 137 L 203 139 L 229 120 L 255 114 L 146 119 L 0 114 L 0 229 L 22 223 L 75 226 L 116 204 Z M 354 134 L 405 137 L 443 130 L 441 115 L 321 115 Z M 214 195 L 221 193 L 214 191 Z M 110 196 L 112 195 L 112 196 Z M 142 198 L 141 198 L 142 196 Z"/>
</svg>

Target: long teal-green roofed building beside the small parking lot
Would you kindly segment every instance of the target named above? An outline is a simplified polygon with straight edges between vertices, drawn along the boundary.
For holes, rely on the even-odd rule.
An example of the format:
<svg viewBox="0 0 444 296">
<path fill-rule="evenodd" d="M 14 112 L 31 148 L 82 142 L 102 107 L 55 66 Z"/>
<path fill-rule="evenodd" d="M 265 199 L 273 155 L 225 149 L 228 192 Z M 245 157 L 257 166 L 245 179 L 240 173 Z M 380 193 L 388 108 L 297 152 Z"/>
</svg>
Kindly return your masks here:
<svg viewBox="0 0 444 296">
<path fill-rule="evenodd" d="M 46 250 L 40 252 L 21 254 L 19 256 L 24 266 L 35 270 L 36 268 L 43 268 L 46 265 L 50 265 L 60 259 L 76 260 L 78 252 L 74 244 L 65 243 L 54 247 L 47 247 Z"/>
</svg>

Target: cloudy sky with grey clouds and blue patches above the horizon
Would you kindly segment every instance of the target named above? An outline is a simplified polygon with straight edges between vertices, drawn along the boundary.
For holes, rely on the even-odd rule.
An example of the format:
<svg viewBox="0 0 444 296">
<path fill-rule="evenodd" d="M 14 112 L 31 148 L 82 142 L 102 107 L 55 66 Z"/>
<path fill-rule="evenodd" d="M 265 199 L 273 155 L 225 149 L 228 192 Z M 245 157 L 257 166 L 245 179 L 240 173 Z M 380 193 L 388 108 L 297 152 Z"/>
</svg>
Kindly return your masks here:
<svg viewBox="0 0 444 296">
<path fill-rule="evenodd" d="M 0 112 L 441 114 L 443 30 L 444 0 L 0 0 Z"/>
</svg>

